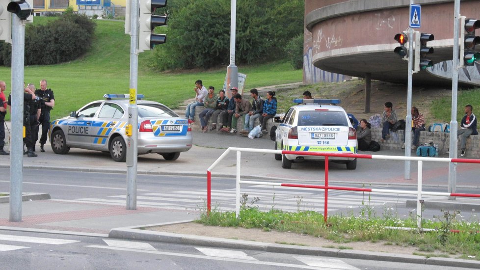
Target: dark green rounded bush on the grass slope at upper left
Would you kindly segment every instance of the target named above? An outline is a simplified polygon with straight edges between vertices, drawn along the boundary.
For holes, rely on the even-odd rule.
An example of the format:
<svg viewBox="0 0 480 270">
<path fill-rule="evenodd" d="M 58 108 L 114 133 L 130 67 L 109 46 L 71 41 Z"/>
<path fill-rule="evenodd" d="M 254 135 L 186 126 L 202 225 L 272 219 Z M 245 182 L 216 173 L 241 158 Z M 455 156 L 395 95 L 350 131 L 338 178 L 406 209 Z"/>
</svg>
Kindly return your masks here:
<svg viewBox="0 0 480 270">
<path fill-rule="evenodd" d="M 25 29 L 25 65 L 51 65 L 75 60 L 91 47 L 95 23 L 84 15 L 66 13 L 45 25 Z M 11 66 L 11 45 L 0 47 L 0 63 Z"/>
</svg>

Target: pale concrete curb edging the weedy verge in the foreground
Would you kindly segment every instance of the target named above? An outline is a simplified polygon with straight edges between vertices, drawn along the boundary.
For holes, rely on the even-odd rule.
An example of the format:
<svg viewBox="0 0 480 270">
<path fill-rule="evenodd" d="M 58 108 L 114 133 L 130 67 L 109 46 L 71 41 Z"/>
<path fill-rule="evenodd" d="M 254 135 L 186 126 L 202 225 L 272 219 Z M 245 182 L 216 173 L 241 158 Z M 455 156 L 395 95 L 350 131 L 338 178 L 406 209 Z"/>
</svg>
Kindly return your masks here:
<svg viewBox="0 0 480 270">
<path fill-rule="evenodd" d="M 173 223 L 183 223 L 182 222 L 170 222 Z M 167 223 L 156 224 L 165 225 Z M 148 226 L 152 226 L 149 224 Z M 186 235 L 186 234 L 176 234 L 176 233 L 163 233 L 156 231 L 146 231 L 140 230 L 138 226 L 136 228 L 114 228 L 111 229 L 108 233 L 108 238 L 117 238 L 117 239 L 129 239 L 129 240 L 138 240 L 138 241 L 155 241 L 155 242 L 164 242 L 164 243 L 177 243 L 177 244 L 189 244 L 189 245 L 202 245 L 209 247 L 221 247 L 221 248 L 236 248 L 236 249 L 249 249 L 249 250 L 260 250 L 265 252 L 273 253 L 289 253 L 289 254 L 301 254 L 301 255 L 310 255 L 310 256 L 326 256 L 326 257 L 337 257 L 337 258 L 347 258 L 347 259 L 360 259 L 360 260 L 376 260 L 376 261 L 387 261 L 387 262 L 401 262 L 401 263 L 414 263 L 414 264 L 425 264 L 425 265 L 437 265 L 437 266 L 452 266 L 452 267 L 464 267 L 464 268 L 480 268 L 479 261 L 465 260 L 465 259 L 454 259 L 454 258 L 442 258 L 442 257 L 430 257 L 426 258 L 424 256 L 418 255 L 406 255 L 398 253 L 384 253 L 384 252 L 373 252 L 373 251 L 361 251 L 361 250 L 344 250 L 344 249 L 335 249 L 335 248 L 323 248 L 323 247 L 309 247 L 309 246 L 299 246 L 299 245 L 286 245 L 286 244 L 277 244 L 277 243 L 263 243 L 263 242 L 253 242 L 245 240 L 233 240 L 233 239 L 223 239 L 207 236 L 195 236 L 195 235 Z"/>
</svg>

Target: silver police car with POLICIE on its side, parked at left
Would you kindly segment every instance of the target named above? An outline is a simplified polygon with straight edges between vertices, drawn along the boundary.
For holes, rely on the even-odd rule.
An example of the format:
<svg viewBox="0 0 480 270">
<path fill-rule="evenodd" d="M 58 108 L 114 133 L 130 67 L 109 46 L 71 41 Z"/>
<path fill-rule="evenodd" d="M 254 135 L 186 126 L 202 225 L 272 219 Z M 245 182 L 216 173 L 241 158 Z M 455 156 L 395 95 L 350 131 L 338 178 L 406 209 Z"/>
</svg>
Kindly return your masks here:
<svg viewBox="0 0 480 270">
<path fill-rule="evenodd" d="M 52 150 L 67 154 L 71 147 L 109 152 L 116 162 L 127 157 L 125 127 L 129 95 L 107 94 L 105 100 L 90 102 L 70 116 L 52 121 L 49 130 Z M 157 153 L 174 161 L 192 147 L 187 119 L 170 108 L 137 96 L 138 154 Z"/>
</svg>

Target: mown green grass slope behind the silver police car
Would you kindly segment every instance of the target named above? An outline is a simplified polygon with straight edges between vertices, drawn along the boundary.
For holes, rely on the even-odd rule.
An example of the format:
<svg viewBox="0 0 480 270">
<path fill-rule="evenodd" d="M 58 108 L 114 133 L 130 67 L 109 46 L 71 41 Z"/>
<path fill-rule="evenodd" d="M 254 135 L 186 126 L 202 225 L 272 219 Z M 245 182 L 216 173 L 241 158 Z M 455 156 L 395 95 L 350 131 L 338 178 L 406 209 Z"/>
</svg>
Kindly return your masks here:
<svg viewBox="0 0 480 270">
<path fill-rule="evenodd" d="M 52 17 L 35 17 L 34 24 L 42 24 Z M 130 88 L 130 35 L 125 34 L 123 21 L 97 20 L 95 41 L 91 51 L 81 59 L 49 66 L 25 67 L 25 82 L 39 88 L 41 79 L 55 94 L 52 119 L 68 115 L 84 104 L 102 99 L 106 93 L 128 93 Z M 148 68 L 153 56 L 147 51 L 138 56 L 137 93 L 149 100 L 161 102 L 171 108 L 194 97 L 193 86 L 198 79 L 205 85 L 221 89 L 226 67 L 209 71 L 159 73 Z M 240 66 L 247 74 L 245 89 L 302 80 L 302 71 L 294 71 L 287 62 L 258 66 Z M 11 68 L 0 67 L 0 80 L 7 82 L 10 93 Z M 7 115 L 9 119 L 9 115 Z"/>
</svg>

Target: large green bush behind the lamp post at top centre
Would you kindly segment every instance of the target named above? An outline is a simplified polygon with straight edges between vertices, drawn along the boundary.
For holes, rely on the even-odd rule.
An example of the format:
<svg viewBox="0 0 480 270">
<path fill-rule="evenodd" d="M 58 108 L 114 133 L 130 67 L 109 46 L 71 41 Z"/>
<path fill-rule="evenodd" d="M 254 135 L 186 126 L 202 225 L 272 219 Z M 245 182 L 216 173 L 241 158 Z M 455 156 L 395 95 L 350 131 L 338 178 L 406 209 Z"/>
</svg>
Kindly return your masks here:
<svg viewBox="0 0 480 270">
<path fill-rule="evenodd" d="M 230 57 L 230 0 L 181 1 L 156 11 L 169 15 L 167 42 L 155 48 L 155 68 L 190 69 L 227 65 Z M 238 63 L 284 58 L 285 37 L 303 33 L 303 1 L 242 0 L 237 3 Z M 157 27 L 165 33 L 167 27 Z M 172 60 L 173 59 L 173 60 Z"/>
</svg>

